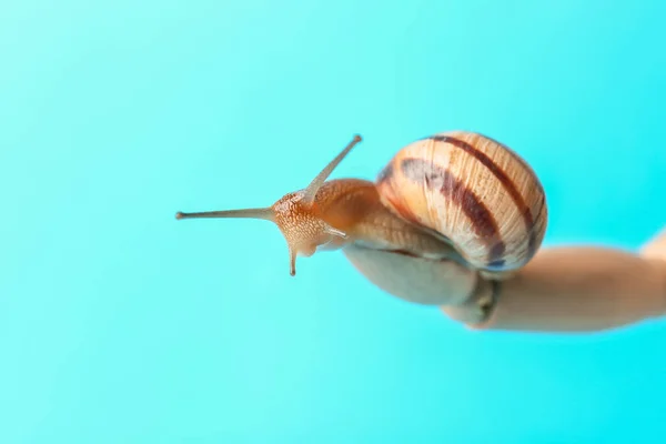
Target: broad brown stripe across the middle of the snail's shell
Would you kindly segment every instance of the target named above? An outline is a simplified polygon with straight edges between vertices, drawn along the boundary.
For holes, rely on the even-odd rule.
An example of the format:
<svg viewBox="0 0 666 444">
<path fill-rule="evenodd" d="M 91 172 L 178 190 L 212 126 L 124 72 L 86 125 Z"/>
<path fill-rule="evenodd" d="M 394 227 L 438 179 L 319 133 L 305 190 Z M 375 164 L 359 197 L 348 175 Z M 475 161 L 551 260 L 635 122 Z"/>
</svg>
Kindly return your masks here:
<svg viewBox="0 0 666 444">
<path fill-rule="evenodd" d="M 446 199 L 457 204 L 472 222 L 474 232 L 482 236 L 491 248 L 488 254 L 491 266 L 504 264 L 502 256 L 506 251 L 506 244 L 500 236 L 497 221 L 487 206 L 463 182 L 450 171 L 422 159 L 404 159 L 400 168 L 408 180 L 437 190 Z"/>
</svg>

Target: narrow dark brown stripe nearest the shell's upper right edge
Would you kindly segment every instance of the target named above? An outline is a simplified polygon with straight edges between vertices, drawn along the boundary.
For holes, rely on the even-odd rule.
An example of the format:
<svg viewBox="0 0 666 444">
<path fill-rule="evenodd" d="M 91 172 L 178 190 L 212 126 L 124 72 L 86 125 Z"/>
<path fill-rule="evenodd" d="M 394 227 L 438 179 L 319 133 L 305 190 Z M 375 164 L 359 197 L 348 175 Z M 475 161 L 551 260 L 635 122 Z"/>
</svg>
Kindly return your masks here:
<svg viewBox="0 0 666 444">
<path fill-rule="evenodd" d="M 481 135 L 481 134 L 480 134 L 480 137 L 487 139 L 488 141 L 496 143 L 498 147 L 502 147 L 505 150 L 507 150 L 507 148 L 505 145 L 503 145 L 500 142 L 496 142 L 495 140 L 493 140 L 491 138 L 487 138 L 487 137 Z M 521 215 L 523 216 L 523 221 L 525 223 L 525 230 L 529 233 L 529 240 L 528 240 L 528 246 L 527 246 L 528 254 L 533 255 L 536 250 L 536 232 L 534 230 L 534 218 L 532 215 L 532 211 L 529 211 L 529 206 L 525 203 L 525 199 L 523 199 L 523 195 L 516 188 L 516 184 L 511 180 L 511 178 L 508 175 L 506 175 L 504 170 L 500 165 L 497 165 L 486 153 L 484 153 L 483 151 L 478 150 L 477 148 L 475 148 L 474 145 L 472 145 L 471 143 L 468 143 L 464 140 L 454 138 L 452 135 L 446 135 L 446 134 L 433 135 L 427 139 L 434 140 L 436 142 L 450 143 L 450 144 L 454 145 L 455 148 L 458 148 L 458 149 L 465 151 L 470 155 L 474 157 L 477 161 L 480 161 L 484 167 L 486 167 L 495 175 L 495 178 L 500 181 L 500 183 L 502 183 L 502 186 L 504 186 L 506 192 L 511 195 L 511 199 L 514 201 L 514 203 L 518 208 L 518 211 L 521 212 Z M 507 150 L 507 152 L 509 152 L 509 151 Z M 519 159 L 519 157 L 513 155 L 513 158 L 518 159 L 521 161 L 521 164 L 524 168 L 526 168 L 526 169 L 529 168 L 522 159 Z M 502 265 L 503 265 L 503 263 L 497 264 L 496 266 L 502 266 Z"/>
</svg>

